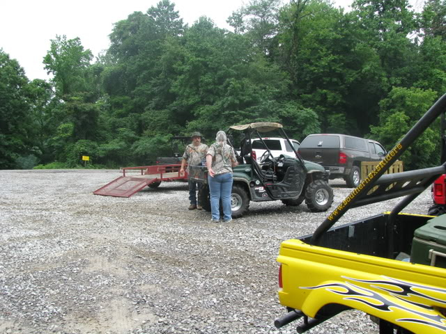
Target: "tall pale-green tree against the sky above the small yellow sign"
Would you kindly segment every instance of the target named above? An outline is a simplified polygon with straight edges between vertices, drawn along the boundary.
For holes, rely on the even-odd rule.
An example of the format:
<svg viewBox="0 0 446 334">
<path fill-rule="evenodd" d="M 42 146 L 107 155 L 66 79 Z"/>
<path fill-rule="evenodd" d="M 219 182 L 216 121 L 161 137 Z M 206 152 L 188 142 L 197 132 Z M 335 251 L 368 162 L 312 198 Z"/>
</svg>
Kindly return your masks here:
<svg viewBox="0 0 446 334">
<path fill-rule="evenodd" d="M 98 132 L 99 109 L 95 102 L 100 95 L 102 66 L 91 65 L 92 57 L 79 38 L 56 36 L 44 58 L 45 69 L 54 75 L 56 97 L 63 100 L 52 110 L 54 129 L 63 130 L 50 143 L 56 159 L 69 166 L 82 163 L 80 155 L 76 159 L 71 156 L 77 141 L 95 141 Z"/>
</svg>

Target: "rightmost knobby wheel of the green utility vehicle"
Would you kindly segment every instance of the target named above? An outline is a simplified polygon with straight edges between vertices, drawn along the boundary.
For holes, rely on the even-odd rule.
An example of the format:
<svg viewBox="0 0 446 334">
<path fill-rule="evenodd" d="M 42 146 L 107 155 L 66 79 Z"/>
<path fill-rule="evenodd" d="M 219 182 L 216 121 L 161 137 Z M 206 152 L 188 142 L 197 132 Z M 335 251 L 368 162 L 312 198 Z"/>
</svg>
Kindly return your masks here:
<svg viewBox="0 0 446 334">
<path fill-rule="evenodd" d="M 311 212 L 327 211 L 333 202 L 333 189 L 323 180 L 315 180 L 305 190 L 305 204 Z"/>
</svg>

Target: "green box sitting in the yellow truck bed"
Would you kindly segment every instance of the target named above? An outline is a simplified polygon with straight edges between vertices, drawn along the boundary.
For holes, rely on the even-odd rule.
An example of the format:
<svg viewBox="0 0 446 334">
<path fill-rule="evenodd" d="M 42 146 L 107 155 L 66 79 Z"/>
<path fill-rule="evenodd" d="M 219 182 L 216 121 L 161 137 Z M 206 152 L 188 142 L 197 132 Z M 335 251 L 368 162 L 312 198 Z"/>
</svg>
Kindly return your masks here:
<svg viewBox="0 0 446 334">
<path fill-rule="evenodd" d="M 446 268 L 446 214 L 415 230 L 410 262 Z"/>
</svg>

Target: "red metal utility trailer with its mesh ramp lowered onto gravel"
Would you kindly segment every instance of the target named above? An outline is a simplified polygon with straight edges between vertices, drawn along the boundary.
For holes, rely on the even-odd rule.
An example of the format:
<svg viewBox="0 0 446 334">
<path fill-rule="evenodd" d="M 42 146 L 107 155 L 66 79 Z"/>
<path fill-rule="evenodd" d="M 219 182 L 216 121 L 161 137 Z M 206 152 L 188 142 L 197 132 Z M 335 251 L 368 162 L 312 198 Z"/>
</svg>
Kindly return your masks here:
<svg viewBox="0 0 446 334">
<path fill-rule="evenodd" d="M 95 195 L 126 197 L 141 191 L 155 182 L 171 182 L 187 180 L 187 173 L 180 176 L 180 164 L 156 165 L 123 168 L 123 176 L 93 191 Z M 140 171 L 140 175 L 128 175 L 129 171 Z M 127 175 L 126 175 L 127 172 Z"/>
</svg>

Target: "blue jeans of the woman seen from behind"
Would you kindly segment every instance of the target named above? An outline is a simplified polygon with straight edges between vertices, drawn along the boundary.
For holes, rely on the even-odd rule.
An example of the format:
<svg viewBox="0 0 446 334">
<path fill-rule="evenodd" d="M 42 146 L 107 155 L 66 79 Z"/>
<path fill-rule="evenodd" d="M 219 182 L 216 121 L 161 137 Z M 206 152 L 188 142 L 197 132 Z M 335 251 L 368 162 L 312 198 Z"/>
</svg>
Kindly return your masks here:
<svg viewBox="0 0 446 334">
<path fill-rule="evenodd" d="M 220 200 L 222 200 L 223 220 L 229 221 L 231 219 L 232 182 L 232 173 L 218 174 L 214 177 L 208 175 L 210 212 L 213 221 L 220 220 Z"/>
</svg>

